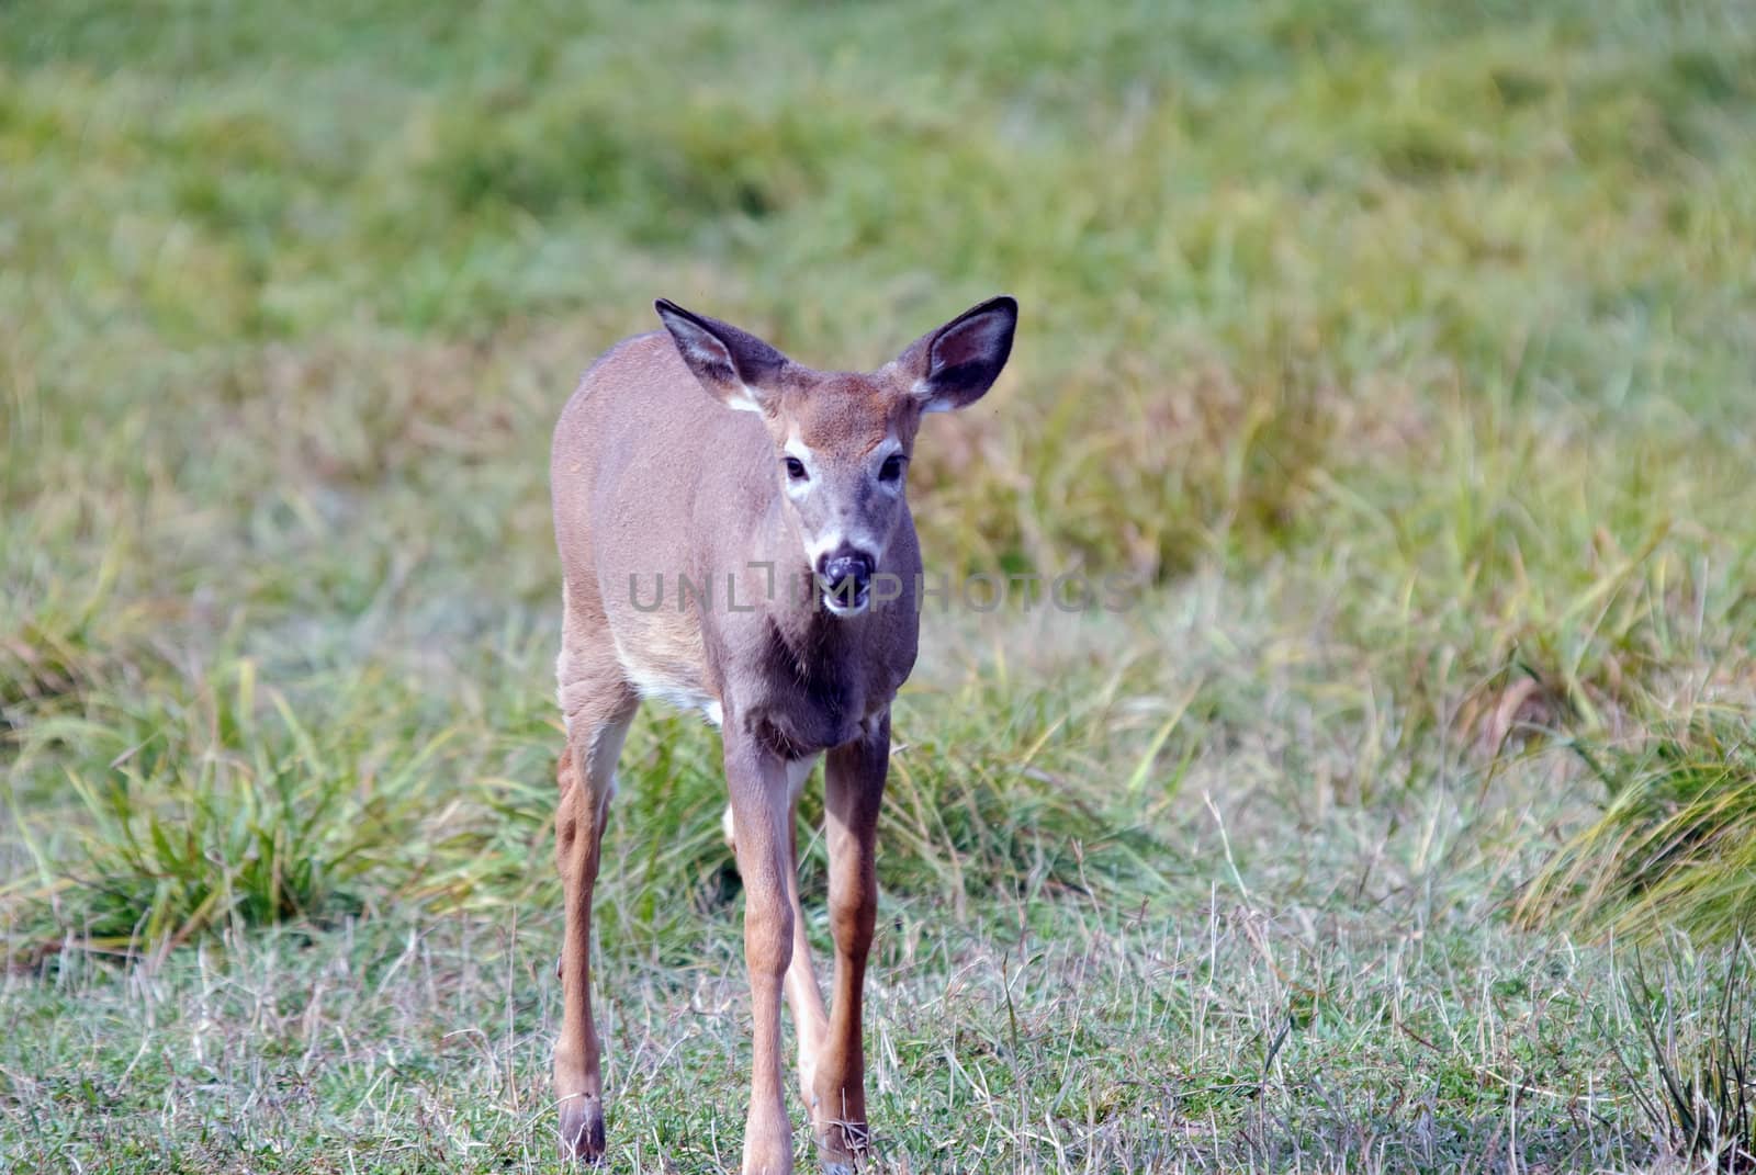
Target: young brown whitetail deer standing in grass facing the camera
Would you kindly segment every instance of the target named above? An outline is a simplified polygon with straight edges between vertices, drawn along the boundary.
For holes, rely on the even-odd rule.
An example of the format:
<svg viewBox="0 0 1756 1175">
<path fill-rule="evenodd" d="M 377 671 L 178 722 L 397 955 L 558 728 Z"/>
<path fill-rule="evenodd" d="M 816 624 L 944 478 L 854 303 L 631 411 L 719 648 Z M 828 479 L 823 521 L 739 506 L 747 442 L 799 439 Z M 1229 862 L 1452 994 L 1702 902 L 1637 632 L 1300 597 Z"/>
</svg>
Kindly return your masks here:
<svg viewBox="0 0 1756 1175">
<path fill-rule="evenodd" d="M 983 302 L 871 374 L 811 371 L 736 327 L 666 300 L 657 309 L 669 334 L 604 353 L 555 429 L 567 724 L 555 815 L 567 908 L 555 1045 L 562 1152 L 604 1152 L 592 887 L 616 753 L 641 699 L 660 697 L 723 731 L 755 1020 L 745 1175 L 792 1170 L 783 987 L 818 1145 L 831 1170 L 852 1170 L 866 1149 L 873 840 L 890 699 L 915 664 L 918 631 L 906 467 L 924 413 L 964 407 L 999 376 L 1018 306 Z M 836 941 L 827 1012 L 799 912 L 794 829 L 799 789 L 825 753 Z"/>
</svg>

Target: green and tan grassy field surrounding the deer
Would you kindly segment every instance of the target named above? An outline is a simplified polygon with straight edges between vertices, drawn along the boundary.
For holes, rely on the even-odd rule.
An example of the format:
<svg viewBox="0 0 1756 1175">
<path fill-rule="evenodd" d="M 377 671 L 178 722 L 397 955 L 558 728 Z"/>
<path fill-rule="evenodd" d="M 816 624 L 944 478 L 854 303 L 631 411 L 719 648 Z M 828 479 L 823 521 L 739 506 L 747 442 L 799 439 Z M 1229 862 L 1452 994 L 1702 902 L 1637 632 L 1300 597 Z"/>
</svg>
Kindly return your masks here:
<svg viewBox="0 0 1756 1175">
<path fill-rule="evenodd" d="M 997 292 L 929 567 L 1147 587 L 925 618 L 882 1170 L 1756 1149 L 1665 1110 L 1756 962 L 1740 0 L 23 0 L 0 1168 L 553 1170 L 560 404 L 655 295 L 871 367 Z M 623 755 L 616 1171 L 739 1152 L 716 755 Z"/>
</svg>

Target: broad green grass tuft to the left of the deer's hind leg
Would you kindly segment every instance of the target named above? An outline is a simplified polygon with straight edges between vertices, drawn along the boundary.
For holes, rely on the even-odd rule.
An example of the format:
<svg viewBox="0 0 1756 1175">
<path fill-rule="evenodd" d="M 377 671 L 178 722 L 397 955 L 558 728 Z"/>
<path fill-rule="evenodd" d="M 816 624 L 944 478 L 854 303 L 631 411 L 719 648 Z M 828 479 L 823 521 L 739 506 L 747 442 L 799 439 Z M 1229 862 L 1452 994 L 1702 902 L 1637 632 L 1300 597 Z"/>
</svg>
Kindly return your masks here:
<svg viewBox="0 0 1756 1175">
<path fill-rule="evenodd" d="M 39 750 L 84 753 L 65 766 L 65 825 L 14 799 L 33 866 L 7 887 L 23 908 L 16 947 L 162 955 L 214 927 L 332 924 L 367 910 L 362 878 L 414 876 L 411 840 L 446 732 L 393 748 L 363 739 L 374 688 L 369 676 L 341 683 L 300 718 L 279 690 L 258 697 L 256 662 L 237 659 L 193 694 L 102 699 L 79 720 L 35 724 Z"/>
</svg>

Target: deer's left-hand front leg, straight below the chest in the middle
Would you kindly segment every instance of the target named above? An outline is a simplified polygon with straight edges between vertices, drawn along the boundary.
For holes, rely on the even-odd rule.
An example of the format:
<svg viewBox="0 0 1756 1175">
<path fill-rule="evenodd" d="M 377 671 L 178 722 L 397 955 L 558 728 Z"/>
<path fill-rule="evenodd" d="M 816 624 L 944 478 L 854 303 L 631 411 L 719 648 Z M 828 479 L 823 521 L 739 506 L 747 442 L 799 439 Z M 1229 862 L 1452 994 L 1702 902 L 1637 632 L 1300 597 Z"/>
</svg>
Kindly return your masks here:
<svg viewBox="0 0 1756 1175">
<path fill-rule="evenodd" d="M 781 985 L 792 962 L 794 933 L 787 768 L 727 720 L 725 782 L 732 794 L 738 873 L 745 882 L 745 964 L 750 970 L 753 1036 L 743 1175 L 790 1175 L 792 1124 L 787 1121 L 780 1054 Z"/>
</svg>

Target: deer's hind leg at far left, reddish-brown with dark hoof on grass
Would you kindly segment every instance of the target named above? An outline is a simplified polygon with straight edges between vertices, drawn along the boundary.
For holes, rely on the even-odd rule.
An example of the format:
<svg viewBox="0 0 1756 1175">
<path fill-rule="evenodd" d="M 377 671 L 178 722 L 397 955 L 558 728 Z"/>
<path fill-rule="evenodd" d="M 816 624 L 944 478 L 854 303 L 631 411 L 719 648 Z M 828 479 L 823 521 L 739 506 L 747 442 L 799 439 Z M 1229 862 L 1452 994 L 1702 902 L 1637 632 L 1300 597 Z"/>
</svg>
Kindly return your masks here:
<svg viewBox="0 0 1756 1175">
<path fill-rule="evenodd" d="M 562 708 L 567 746 L 557 782 L 555 859 L 560 866 L 567 924 L 562 938 L 562 1024 L 555 1042 L 555 1099 L 560 1107 L 560 1154 L 595 1163 L 604 1154 L 604 1078 L 597 1024 L 592 1020 L 592 890 L 609 799 L 616 790 L 616 755 L 639 706 L 620 680 L 567 680 L 562 655 Z"/>
</svg>

